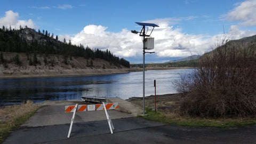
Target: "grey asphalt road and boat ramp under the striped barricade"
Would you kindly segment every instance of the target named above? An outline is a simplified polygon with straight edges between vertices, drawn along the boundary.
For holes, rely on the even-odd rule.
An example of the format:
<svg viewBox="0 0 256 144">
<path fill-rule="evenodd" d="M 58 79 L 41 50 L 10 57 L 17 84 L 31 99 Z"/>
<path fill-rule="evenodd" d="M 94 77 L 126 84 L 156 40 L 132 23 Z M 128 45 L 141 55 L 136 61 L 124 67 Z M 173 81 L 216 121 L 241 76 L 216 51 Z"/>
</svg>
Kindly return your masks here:
<svg viewBox="0 0 256 144">
<path fill-rule="evenodd" d="M 44 105 L 4 143 L 256 143 L 255 125 L 232 129 L 166 125 L 116 110 L 109 110 L 115 127 L 113 134 L 105 113 L 87 111 L 77 113 L 70 138 L 67 138 L 71 115 L 59 114 L 58 109 L 63 110 L 62 107 L 61 103 Z M 45 110 L 50 111 L 43 113 Z M 99 117 L 103 119 L 97 120 Z"/>
</svg>

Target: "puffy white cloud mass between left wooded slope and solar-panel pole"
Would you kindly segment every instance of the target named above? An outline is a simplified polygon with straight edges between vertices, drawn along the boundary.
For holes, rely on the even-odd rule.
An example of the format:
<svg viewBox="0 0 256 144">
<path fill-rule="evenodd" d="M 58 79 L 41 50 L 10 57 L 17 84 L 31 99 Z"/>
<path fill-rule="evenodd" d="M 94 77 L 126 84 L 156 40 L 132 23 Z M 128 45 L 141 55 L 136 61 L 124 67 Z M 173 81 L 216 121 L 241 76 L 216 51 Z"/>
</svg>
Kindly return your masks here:
<svg viewBox="0 0 256 144">
<path fill-rule="evenodd" d="M 123 29 L 119 33 L 111 33 L 107 31 L 107 27 L 96 25 L 84 27 L 80 33 L 71 37 L 71 42 L 77 45 L 88 45 L 92 48 L 108 49 L 122 57 L 134 56 L 137 52 L 136 48 L 141 45 L 139 37 L 135 38 L 127 29 Z"/>
</svg>

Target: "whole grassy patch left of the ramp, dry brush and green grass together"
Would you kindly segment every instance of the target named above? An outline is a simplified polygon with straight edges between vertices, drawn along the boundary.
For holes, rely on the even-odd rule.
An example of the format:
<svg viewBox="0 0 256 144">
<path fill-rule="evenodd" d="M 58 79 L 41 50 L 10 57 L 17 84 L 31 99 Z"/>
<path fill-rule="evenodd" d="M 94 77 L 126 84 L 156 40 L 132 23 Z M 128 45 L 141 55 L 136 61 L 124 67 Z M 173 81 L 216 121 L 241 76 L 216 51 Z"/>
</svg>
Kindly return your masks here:
<svg viewBox="0 0 256 144">
<path fill-rule="evenodd" d="M 0 143 L 3 143 L 11 132 L 25 123 L 37 109 L 38 106 L 31 101 L 22 105 L 0 107 Z"/>
</svg>

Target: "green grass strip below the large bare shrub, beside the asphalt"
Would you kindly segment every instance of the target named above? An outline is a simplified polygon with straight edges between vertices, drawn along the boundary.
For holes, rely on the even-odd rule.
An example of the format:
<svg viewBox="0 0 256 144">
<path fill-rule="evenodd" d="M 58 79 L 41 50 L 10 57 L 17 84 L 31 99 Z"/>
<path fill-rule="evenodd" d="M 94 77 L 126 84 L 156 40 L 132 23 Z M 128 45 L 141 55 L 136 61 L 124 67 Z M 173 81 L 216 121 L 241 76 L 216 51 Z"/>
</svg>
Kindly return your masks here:
<svg viewBox="0 0 256 144">
<path fill-rule="evenodd" d="M 208 118 L 191 118 L 182 117 L 178 115 L 164 115 L 163 113 L 150 108 L 146 108 L 146 115 L 140 116 L 142 118 L 148 119 L 150 121 L 162 122 L 167 124 L 175 124 L 181 126 L 194 126 L 194 127 L 239 127 L 246 126 L 250 124 L 256 124 L 256 118 L 218 118 L 218 119 L 208 119 Z"/>
</svg>

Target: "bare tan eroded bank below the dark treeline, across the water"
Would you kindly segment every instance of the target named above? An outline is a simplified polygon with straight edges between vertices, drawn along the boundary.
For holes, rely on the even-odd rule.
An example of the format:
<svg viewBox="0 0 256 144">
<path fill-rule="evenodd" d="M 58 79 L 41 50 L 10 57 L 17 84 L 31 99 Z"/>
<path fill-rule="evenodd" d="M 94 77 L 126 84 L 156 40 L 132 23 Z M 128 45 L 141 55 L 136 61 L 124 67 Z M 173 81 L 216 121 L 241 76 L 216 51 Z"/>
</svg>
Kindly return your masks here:
<svg viewBox="0 0 256 144">
<path fill-rule="evenodd" d="M 129 73 L 134 70 L 122 65 L 115 66 L 106 60 L 83 57 L 69 57 L 66 64 L 63 55 L 59 54 L 49 54 L 47 57 L 37 54 L 37 63 L 30 65 L 26 53 L 1 52 L 0 54 L 6 62 L 5 64 L 0 62 L 0 77 L 105 75 Z M 15 60 L 17 55 L 19 63 Z"/>
</svg>

